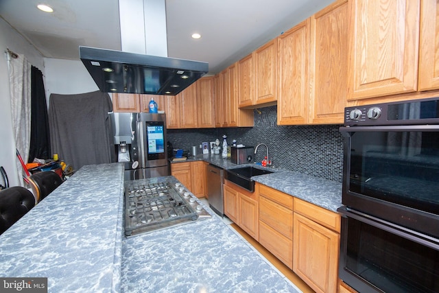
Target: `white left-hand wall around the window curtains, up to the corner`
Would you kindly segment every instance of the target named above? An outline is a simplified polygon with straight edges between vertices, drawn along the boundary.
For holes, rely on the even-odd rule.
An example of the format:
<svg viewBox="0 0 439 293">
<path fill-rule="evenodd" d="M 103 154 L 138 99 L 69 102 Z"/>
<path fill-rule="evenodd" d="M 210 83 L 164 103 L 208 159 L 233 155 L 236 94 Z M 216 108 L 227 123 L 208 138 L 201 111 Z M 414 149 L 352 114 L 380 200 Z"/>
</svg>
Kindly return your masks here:
<svg viewBox="0 0 439 293">
<path fill-rule="evenodd" d="M 0 18 L 0 166 L 5 168 L 10 186 L 15 186 L 20 185 L 21 180 L 16 172 L 17 159 L 12 132 L 8 62 L 7 54 L 4 53 L 6 49 L 22 56 L 24 54 L 32 65 L 43 71 L 43 74 L 45 70 L 43 56 Z"/>
</svg>

